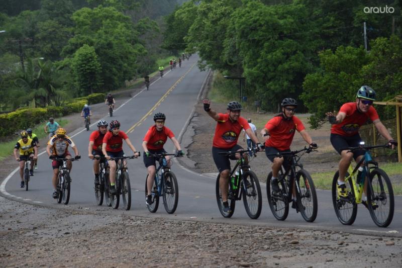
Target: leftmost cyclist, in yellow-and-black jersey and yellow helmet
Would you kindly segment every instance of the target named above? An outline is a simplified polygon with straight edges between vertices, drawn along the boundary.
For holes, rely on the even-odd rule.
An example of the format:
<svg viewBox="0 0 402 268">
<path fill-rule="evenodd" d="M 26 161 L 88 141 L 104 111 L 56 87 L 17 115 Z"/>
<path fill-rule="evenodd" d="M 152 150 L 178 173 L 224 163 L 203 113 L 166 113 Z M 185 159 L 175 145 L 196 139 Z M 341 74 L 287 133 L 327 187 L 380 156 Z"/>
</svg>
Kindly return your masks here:
<svg viewBox="0 0 402 268">
<path fill-rule="evenodd" d="M 14 157 L 20 162 L 21 188 L 24 188 L 25 161 L 28 161 L 29 158 L 33 158 L 35 160 L 38 157 L 38 149 L 36 148 L 35 141 L 28 137 L 27 131 L 23 130 L 20 134 L 21 139 L 17 141 L 17 144 L 14 146 Z M 18 150 L 20 150 L 20 157 L 17 156 Z M 34 161 L 31 161 L 31 169 L 29 170 L 29 174 L 31 176 L 34 175 Z"/>
</svg>

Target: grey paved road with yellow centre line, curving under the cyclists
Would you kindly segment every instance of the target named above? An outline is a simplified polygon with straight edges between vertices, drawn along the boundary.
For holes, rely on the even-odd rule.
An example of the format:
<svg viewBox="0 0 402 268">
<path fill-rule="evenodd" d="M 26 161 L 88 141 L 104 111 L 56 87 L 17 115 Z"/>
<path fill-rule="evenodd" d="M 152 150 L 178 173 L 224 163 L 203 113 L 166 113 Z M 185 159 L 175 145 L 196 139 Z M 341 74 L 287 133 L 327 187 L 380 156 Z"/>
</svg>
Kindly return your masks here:
<svg viewBox="0 0 402 268">
<path fill-rule="evenodd" d="M 153 82 L 149 91 L 142 91 L 127 103 L 120 106 L 113 119 L 121 122 L 121 129 L 128 132 L 129 138 L 137 148 L 142 151 L 141 142 L 147 129 L 153 124 L 152 116 L 155 112 L 163 112 L 167 116 L 166 126 L 178 137 L 185 132 L 186 122 L 197 102 L 203 83 L 206 81 L 207 72 L 199 71 L 196 67 L 195 56 L 189 61 L 184 61 L 181 68 L 166 72 L 163 78 Z M 106 109 L 105 109 L 106 110 Z M 110 120 L 109 117 L 105 119 Z M 80 120 L 77 118 L 77 120 Z M 94 130 L 95 126 L 91 126 Z M 214 130 L 211 129 L 211 132 Z M 90 131 L 91 132 L 91 131 Z M 130 211 L 123 209 L 96 206 L 93 194 L 92 162 L 86 157 L 88 137 L 90 132 L 77 130 L 69 133 L 83 156 L 80 161 L 73 162 L 72 192 L 70 203 L 67 206 L 59 205 L 51 197 L 51 165 L 47 154 L 40 156 L 39 169 L 32 177 L 30 189 L 26 192 L 19 188 L 19 175 L 15 173 L 0 187 L 2 194 L 19 201 L 36 203 L 44 206 L 69 209 L 85 209 L 88 212 L 102 212 L 110 214 L 128 214 L 135 216 L 165 217 L 183 220 L 202 220 L 210 222 L 225 222 L 238 224 L 269 225 L 300 227 L 316 230 L 342 230 L 354 233 L 372 233 L 375 235 L 389 235 L 402 237 L 402 197 L 395 197 L 395 215 L 388 228 L 378 228 L 372 222 L 369 213 L 359 206 L 358 215 L 352 226 L 343 226 L 335 216 L 331 194 L 329 191 L 318 191 L 319 212 L 314 223 L 307 223 L 303 218 L 290 210 L 289 216 L 284 222 L 275 220 L 269 210 L 266 201 L 265 185 L 263 185 L 263 209 L 258 220 L 248 218 L 242 201 L 237 203 L 235 213 L 231 219 L 225 219 L 218 211 L 215 198 L 215 178 L 194 173 L 183 168 L 175 161 L 172 169 L 176 173 L 179 182 L 179 204 L 173 215 L 169 215 L 161 206 L 156 214 L 148 212 L 145 206 L 145 177 L 146 168 L 142 158 L 129 160 L 129 174 L 132 190 L 132 207 Z M 185 135 L 185 133 L 184 133 Z M 43 147 L 42 147 L 43 148 Z M 173 150 L 170 141 L 165 149 Z M 124 150 L 130 155 L 130 149 L 125 145 Z M 6 182 L 6 181 L 5 181 Z"/>
</svg>

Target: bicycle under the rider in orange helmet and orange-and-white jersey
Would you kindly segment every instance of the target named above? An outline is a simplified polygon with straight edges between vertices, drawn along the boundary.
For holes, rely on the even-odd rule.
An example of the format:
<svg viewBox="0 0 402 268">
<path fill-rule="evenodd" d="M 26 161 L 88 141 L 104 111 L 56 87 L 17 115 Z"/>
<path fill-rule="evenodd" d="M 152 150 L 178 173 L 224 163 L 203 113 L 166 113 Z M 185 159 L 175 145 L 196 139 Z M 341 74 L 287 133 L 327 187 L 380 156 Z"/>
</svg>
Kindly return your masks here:
<svg viewBox="0 0 402 268">
<path fill-rule="evenodd" d="M 79 159 L 79 158 L 78 158 Z M 75 158 L 59 158 L 55 157 L 53 160 L 62 161 L 59 163 L 59 174 L 57 175 L 57 203 L 63 201 L 64 205 L 67 205 L 70 201 L 70 190 L 71 190 L 71 178 L 70 170 L 67 168 L 67 161 L 76 161 Z"/>
</svg>

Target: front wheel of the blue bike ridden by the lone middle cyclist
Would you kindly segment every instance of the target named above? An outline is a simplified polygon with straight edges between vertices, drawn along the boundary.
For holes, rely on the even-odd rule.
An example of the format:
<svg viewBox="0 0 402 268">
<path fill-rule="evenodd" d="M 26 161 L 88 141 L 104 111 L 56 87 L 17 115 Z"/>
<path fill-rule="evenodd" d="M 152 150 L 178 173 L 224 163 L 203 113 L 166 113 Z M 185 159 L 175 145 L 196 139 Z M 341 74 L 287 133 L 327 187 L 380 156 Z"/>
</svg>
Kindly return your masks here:
<svg viewBox="0 0 402 268">
<path fill-rule="evenodd" d="M 164 184 L 163 184 L 163 206 L 167 213 L 172 214 L 177 208 L 177 203 L 179 202 L 179 188 L 177 184 L 176 175 L 167 171 L 164 174 Z M 169 188 L 166 182 L 169 182 Z"/>
</svg>

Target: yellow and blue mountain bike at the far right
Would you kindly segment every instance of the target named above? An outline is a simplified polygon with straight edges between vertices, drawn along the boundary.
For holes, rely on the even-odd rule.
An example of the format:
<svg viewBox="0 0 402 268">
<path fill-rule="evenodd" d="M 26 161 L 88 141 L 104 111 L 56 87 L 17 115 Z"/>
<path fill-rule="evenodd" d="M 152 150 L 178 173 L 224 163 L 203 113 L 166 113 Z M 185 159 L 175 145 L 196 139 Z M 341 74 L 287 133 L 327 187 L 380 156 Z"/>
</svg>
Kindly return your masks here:
<svg viewBox="0 0 402 268">
<path fill-rule="evenodd" d="M 361 143 L 363 145 L 364 142 Z M 364 156 L 352 169 L 349 165 L 345 177 L 345 184 L 349 193 L 347 198 L 338 197 L 337 182 L 339 170 L 335 173 L 332 182 L 332 201 L 338 220 L 344 225 L 351 225 L 356 219 L 357 204 L 364 204 L 362 194 L 366 188 L 366 206 L 370 216 L 378 227 L 387 227 L 393 218 L 394 198 L 391 181 L 384 170 L 371 157 L 371 149 L 389 148 L 389 145 L 348 147 L 342 150 L 364 150 Z M 363 166 L 363 171 L 358 168 Z M 366 179 L 368 179 L 366 181 Z"/>
</svg>

